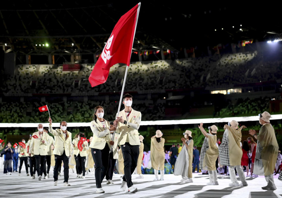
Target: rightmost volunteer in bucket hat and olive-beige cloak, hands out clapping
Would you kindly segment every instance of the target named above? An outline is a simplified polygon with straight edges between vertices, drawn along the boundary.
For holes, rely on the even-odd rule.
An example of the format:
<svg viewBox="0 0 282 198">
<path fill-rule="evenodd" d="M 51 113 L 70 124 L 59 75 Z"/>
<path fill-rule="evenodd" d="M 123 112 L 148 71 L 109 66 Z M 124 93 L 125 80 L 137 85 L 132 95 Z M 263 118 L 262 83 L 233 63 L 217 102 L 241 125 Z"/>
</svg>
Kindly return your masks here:
<svg viewBox="0 0 282 198">
<path fill-rule="evenodd" d="M 274 128 L 269 121 L 270 118 L 271 115 L 267 111 L 259 114 L 259 123 L 262 124 L 259 135 L 257 135 L 255 130 L 249 130 L 249 133 L 258 140 L 254 174 L 264 175 L 267 182 L 267 186 L 262 187 L 264 190 L 276 190 L 273 172 L 278 155 L 278 143 Z"/>
</svg>

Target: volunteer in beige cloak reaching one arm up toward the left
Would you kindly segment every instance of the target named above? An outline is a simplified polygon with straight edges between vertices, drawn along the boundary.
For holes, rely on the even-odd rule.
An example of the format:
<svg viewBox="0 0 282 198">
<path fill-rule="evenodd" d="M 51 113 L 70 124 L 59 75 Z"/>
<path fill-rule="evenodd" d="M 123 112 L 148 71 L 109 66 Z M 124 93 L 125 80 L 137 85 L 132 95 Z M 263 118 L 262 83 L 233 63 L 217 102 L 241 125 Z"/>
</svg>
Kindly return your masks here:
<svg viewBox="0 0 282 198">
<path fill-rule="evenodd" d="M 203 127 L 203 123 L 200 123 L 199 129 L 205 136 L 204 143 L 201 149 L 200 155 L 200 170 L 209 171 L 209 182 L 207 185 L 218 185 L 217 172 L 216 172 L 216 159 L 219 155 L 218 148 L 216 146 L 216 133 L 218 128 L 215 125 L 209 127 L 209 133 L 207 133 Z"/>
</svg>

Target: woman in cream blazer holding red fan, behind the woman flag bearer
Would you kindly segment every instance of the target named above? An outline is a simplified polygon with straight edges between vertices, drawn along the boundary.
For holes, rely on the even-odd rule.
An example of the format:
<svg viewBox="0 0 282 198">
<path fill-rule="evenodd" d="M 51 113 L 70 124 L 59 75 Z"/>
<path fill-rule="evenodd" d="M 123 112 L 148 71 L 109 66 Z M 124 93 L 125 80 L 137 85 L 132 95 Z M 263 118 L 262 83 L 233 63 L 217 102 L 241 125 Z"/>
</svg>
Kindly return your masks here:
<svg viewBox="0 0 282 198">
<path fill-rule="evenodd" d="M 85 138 L 85 134 L 84 133 L 78 133 L 77 135 L 77 139 L 78 141 L 75 143 L 75 147 L 78 148 L 78 142 L 80 141 L 80 138 Z M 76 166 L 77 166 L 77 170 L 78 170 L 78 174 L 79 177 L 78 178 L 85 178 L 85 161 L 86 161 L 86 150 L 88 150 L 88 142 L 84 141 L 82 144 L 82 151 L 80 151 L 79 149 L 77 149 L 76 153 L 74 153 L 76 155 Z M 75 152 L 75 151 L 74 151 Z"/>
</svg>

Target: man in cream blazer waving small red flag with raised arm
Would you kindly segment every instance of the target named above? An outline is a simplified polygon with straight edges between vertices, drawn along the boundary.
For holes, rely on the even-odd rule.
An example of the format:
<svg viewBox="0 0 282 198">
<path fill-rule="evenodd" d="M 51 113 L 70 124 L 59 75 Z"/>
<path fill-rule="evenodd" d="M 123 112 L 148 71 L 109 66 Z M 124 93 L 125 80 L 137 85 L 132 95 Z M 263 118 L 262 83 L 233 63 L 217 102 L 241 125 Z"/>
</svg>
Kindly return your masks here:
<svg viewBox="0 0 282 198">
<path fill-rule="evenodd" d="M 64 186 L 70 186 L 68 183 L 68 160 L 71 151 L 71 133 L 67 131 L 67 122 L 61 121 L 60 129 L 54 130 L 52 128 L 52 119 L 49 117 L 49 132 L 55 137 L 55 148 L 53 154 L 55 155 L 54 167 L 54 186 L 58 185 L 58 172 L 62 161 L 64 163 Z"/>
</svg>

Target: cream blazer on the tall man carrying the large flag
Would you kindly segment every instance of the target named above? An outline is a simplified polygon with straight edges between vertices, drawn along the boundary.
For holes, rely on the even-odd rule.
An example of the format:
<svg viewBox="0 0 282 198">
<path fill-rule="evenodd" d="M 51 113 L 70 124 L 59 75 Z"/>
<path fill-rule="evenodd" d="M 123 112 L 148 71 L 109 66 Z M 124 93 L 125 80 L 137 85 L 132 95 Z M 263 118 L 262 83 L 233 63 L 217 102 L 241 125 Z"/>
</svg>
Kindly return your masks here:
<svg viewBox="0 0 282 198">
<path fill-rule="evenodd" d="M 120 111 L 118 116 L 127 121 L 125 109 Z M 140 145 L 140 139 L 138 133 L 140 122 L 141 122 L 141 112 L 132 109 L 131 113 L 128 116 L 127 124 L 123 124 L 120 122 L 117 123 L 116 133 L 120 134 L 118 140 L 119 145 L 125 144 L 127 138 L 130 145 Z"/>
</svg>

